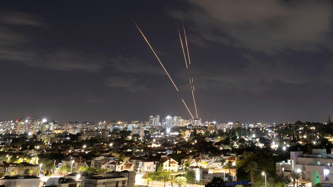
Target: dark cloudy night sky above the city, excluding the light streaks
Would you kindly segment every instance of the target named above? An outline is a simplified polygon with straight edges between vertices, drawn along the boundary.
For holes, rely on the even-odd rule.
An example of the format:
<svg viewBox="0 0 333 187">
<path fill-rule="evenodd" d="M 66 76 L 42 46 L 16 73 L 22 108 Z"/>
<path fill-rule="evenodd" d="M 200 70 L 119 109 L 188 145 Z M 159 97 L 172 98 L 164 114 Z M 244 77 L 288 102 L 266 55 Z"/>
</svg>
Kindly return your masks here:
<svg viewBox="0 0 333 187">
<path fill-rule="evenodd" d="M 333 116 L 331 3 L 208 2 L 1 1 L 0 119 L 190 118 L 182 21 L 203 121 Z"/>
</svg>

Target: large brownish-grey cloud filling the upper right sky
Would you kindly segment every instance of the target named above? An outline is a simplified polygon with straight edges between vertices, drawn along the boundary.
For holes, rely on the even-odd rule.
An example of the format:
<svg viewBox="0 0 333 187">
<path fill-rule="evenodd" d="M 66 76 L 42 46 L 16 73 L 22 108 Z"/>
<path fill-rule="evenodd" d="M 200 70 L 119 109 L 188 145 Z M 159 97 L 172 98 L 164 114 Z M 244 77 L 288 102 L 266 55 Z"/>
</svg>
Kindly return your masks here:
<svg viewBox="0 0 333 187">
<path fill-rule="evenodd" d="M 328 1 L 200 1 L 170 14 L 194 24 L 204 40 L 275 54 L 288 49 L 332 48 L 332 5 Z"/>
</svg>

